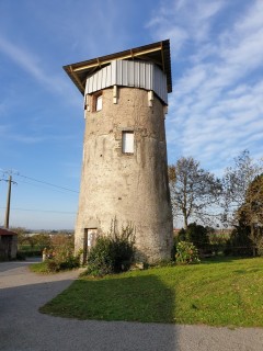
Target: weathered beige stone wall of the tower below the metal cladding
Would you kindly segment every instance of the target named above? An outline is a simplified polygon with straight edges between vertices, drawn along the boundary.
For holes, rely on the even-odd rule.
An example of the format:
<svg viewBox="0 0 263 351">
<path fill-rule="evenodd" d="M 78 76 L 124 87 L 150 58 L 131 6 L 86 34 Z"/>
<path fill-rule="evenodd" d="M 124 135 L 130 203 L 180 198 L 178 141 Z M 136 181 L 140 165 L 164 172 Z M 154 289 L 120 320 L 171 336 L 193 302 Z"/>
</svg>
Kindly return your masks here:
<svg viewBox="0 0 263 351">
<path fill-rule="evenodd" d="M 89 97 L 92 100 L 92 97 Z M 92 110 L 92 109 L 91 109 Z M 122 133 L 134 131 L 135 151 L 122 151 Z M 76 225 L 76 249 L 82 249 L 84 229 L 110 233 L 132 223 L 140 261 L 170 258 L 172 212 L 167 176 L 167 145 L 163 104 L 148 92 L 119 88 L 103 90 L 103 107 L 85 112 L 83 165 Z"/>
</svg>

